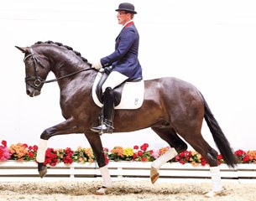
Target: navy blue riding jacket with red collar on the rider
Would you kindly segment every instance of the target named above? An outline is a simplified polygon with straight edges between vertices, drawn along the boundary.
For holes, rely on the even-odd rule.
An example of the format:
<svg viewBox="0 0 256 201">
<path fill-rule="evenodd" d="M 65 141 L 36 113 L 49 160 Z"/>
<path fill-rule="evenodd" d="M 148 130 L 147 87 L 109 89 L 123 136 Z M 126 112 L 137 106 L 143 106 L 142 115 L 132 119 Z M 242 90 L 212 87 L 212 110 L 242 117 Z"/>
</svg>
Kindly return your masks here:
<svg viewBox="0 0 256 201">
<path fill-rule="evenodd" d="M 116 39 L 115 51 L 101 59 L 102 67 L 112 65 L 112 70 L 129 77 L 128 80 L 142 78 L 138 62 L 139 35 L 133 22 L 126 24 Z"/>
</svg>

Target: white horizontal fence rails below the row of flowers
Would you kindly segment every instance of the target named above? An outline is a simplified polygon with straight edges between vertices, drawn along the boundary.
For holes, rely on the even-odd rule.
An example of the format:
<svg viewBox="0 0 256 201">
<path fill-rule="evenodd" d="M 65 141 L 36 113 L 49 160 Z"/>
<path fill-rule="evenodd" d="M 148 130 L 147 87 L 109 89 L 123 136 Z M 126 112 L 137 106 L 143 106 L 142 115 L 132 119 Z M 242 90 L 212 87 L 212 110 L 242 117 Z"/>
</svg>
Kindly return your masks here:
<svg viewBox="0 0 256 201">
<path fill-rule="evenodd" d="M 108 168 L 112 178 L 149 178 L 151 162 L 109 162 Z M 166 163 L 159 170 L 160 178 L 210 178 L 209 167 L 201 165 L 194 167 L 191 164 L 182 165 L 178 162 Z M 221 165 L 221 176 L 225 179 L 245 179 L 256 181 L 256 164 L 238 164 L 237 168 L 230 169 Z M 96 162 L 60 163 L 50 167 L 45 178 L 97 178 L 101 177 Z M 35 162 L 0 162 L 0 180 L 39 178 Z"/>
</svg>

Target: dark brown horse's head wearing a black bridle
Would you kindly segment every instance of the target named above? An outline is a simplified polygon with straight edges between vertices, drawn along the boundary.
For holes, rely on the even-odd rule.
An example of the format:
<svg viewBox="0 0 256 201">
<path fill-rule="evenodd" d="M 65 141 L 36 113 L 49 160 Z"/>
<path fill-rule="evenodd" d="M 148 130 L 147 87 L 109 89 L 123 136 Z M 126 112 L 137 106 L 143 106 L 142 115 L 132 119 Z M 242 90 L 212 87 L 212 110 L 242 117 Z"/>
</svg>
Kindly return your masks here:
<svg viewBox="0 0 256 201">
<path fill-rule="evenodd" d="M 24 53 L 24 64 L 26 69 L 26 91 L 27 95 L 34 97 L 40 95 L 44 81 L 50 72 L 50 64 L 47 59 L 36 52 L 32 47 L 17 49 Z"/>
</svg>

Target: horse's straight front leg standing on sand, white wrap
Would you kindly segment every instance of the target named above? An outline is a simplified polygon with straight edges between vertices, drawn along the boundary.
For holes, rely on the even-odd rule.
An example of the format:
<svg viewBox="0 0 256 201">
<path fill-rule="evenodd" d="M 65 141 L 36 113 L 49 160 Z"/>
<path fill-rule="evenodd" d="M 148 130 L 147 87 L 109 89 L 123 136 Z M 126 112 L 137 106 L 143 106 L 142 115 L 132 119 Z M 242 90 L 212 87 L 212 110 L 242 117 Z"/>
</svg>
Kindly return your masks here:
<svg viewBox="0 0 256 201">
<path fill-rule="evenodd" d="M 100 135 L 95 132 L 85 133 L 88 142 L 91 145 L 94 156 L 97 159 L 98 167 L 102 173 L 103 185 L 101 188 L 98 188 L 96 193 L 97 195 L 103 195 L 107 193 L 109 188 L 112 188 L 112 179 L 107 169 L 106 160 L 102 147 L 102 140 Z"/>
</svg>

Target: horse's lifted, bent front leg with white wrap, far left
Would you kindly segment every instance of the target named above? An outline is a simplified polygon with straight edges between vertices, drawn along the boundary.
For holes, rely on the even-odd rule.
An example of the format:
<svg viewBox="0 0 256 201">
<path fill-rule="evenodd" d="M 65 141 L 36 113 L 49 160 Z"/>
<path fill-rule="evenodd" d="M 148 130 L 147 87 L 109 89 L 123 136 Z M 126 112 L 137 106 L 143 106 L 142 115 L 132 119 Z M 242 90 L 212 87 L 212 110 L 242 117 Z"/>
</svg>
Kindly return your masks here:
<svg viewBox="0 0 256 201">
<path fill-rule="evenodd" d="M 45 151 L 47 149 L 47 142 L 50 137 L 63 134 L 76 133 L 79 127 L 76 126 L 76 122 L 73 118 L 70 118 L 56 126 L 52 126 L 44 130 L 40 136 L 39 149 L 37 152 L 36 161 L 38 162 L 38 171 L 40 178 L 43 178 L 47 173 L 47 167 L 44 165 Z"/>
</svg>

